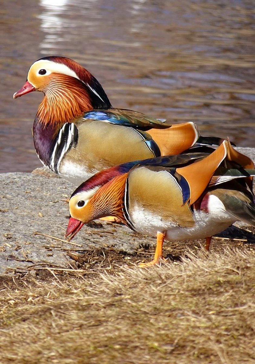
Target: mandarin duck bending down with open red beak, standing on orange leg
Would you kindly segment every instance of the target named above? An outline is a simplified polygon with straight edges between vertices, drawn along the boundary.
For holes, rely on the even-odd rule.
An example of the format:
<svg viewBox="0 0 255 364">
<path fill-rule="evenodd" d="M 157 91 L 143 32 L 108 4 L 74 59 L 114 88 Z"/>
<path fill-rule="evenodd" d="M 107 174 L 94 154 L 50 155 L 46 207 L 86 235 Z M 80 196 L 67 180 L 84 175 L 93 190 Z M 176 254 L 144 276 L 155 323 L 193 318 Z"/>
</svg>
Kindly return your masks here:
<svg viewBox="0 0 255 364">
<path fill-rule="evenodd" d="M 153 261 L 163 259 L 164 240 L 206 238 L 241 220 L 255 226 L 254 163 L 224 141 L 213 153 L 161 157 L 98 173 L 74 191 L 65 237 L 84 223 L 113 215 L 136 232 L 157 237 Z"/>
</svg>

